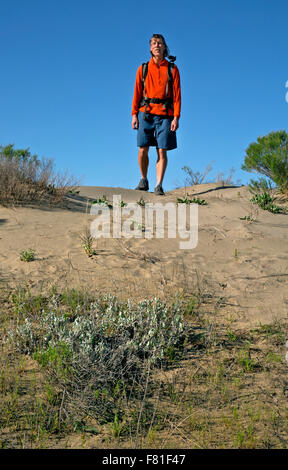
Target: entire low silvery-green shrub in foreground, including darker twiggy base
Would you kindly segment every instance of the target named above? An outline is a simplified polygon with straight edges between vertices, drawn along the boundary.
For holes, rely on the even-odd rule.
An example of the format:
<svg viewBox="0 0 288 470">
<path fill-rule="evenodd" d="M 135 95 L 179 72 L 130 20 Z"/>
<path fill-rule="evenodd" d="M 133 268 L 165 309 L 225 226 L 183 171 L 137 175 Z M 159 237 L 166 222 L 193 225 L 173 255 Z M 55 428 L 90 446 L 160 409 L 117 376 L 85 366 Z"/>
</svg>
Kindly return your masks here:
<svg viewBox="0 0 288 470">
<path fill-rule="evenodd" d="M 147 366 L 163 363 L 185 337 L 180 302 L 171 306 L 155 298 L 134 304 L 106 295 L 85 310 L 79 306 L 73 316 L 60 311 L 58 303 L 51 299 L 37 321 L 26 317 L 10 331 L 10 339 L 62 391 L 67 416 L 73 408 L 77 414 L 111 417 L 119 399 L 115 384 L 132 396 Z"/>
</svg>

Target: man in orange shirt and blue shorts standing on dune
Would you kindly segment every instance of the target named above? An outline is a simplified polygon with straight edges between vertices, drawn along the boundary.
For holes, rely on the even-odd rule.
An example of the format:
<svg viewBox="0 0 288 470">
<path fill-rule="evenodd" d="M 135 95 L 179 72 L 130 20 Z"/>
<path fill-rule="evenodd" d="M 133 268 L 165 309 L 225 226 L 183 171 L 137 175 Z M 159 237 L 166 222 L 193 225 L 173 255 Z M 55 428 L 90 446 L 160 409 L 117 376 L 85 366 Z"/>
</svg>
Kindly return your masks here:
<svg viewBox="0 0 288 470">
<path fill-rule="evenodd" d="M 153 34 L 150 52 L 150 61 L 137 70 L 132 103 L 132 128 L 138 130 L 138 163 L 141 172 L 136 189 L 149 189 L 148 152 L 150 146 L 155 146 L 158 158 L 154 193 L 161 196 L 164 195 L 162 182 L 167 167 L 167 151 L 177 148 L 176 130 L 181 108 L 180 75 L 174 64 L 176 58 L 168 56 L 169 50 L 162 34 Z"/>
</svg>

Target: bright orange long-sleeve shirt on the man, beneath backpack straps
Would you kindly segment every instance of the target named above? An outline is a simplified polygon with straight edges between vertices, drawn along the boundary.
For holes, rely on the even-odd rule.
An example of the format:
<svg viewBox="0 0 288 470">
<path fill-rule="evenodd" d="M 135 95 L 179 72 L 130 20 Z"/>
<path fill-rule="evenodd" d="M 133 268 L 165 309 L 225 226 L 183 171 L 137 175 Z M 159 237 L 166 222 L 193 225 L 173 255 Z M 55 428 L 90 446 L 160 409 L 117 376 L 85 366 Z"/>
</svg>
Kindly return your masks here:
<svg viewBox="0 0 288 470">
<path fill-rule="evenodd" d="M 173 67 L 173 109 L 168 108 L 169 116 L 180 117 L 181 110 L 181 86 L 180 74 L 176 65 Z M 170 87 L 168 86 L 168 61 L 162 60 L 160 65 L 156 65 L 153 58 L 148 64 L 148 73 L 145 78 L 145 91 L 148 98 L 166 98 L 169 97 Z M 136 83 L 134 89 L 134 96 L 132 102 L 132 115 L 137 114 L 138 111 L 145 111 L 145 106 L 139 108 L 139 103 L 143 96 L 142 90 L 142 65 L 138 67 L 136 74 Z M 150 103 L 147 112 L 151 114 L 158 114 L 160 116 L 166 115 L 166 109 L 162 103 Z"/>
</svg>

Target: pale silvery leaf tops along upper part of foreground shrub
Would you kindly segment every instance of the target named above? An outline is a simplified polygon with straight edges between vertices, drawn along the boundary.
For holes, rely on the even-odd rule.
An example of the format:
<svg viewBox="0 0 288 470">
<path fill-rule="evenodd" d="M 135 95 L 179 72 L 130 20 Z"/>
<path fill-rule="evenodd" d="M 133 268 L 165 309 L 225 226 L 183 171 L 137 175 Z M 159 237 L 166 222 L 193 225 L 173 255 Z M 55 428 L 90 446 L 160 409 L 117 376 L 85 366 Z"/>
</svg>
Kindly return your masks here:
<svg viewBox="0 0 288 470">
<path fill-rule="evenodd" d="M 113 296 L 104 296 L 90 304 L 89 312 L 76 315 L 73 321 L 64 313 L 43 310 L 37 326 L 26 318 L 14 336 L 19 348 L 22 339 L 22 347 L 29 353 L 34 351 L 35 344 L 47 348 L 61 341 L 69 344 L 72 351 L 92 354 L 96 345 L 103 344 L 108 337 L 110 342 L 112 338 L 115 341 L 117 338 L 117 342 L 122 338 L 127 348 L 154 363 L 164 358 L 169 346 L 179 343 L 184 328 L 180 303 L 168 307 L 153 299 L 134 305 L 132 301 L 121 303 Z"/>
</svg>

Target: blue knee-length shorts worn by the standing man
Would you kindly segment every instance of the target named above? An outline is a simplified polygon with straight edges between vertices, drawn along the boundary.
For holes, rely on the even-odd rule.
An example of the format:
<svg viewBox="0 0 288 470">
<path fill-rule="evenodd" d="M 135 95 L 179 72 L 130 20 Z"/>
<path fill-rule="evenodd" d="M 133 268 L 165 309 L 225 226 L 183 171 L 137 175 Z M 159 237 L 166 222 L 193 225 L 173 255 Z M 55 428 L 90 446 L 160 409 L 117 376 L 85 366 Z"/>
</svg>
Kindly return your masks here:
<svg viewBox="0 0 288 470">
<path fill-rule="evenodd" d="M 177 148 L 176 131 L 171 131 L 173 116 L 146 113 L 146 119 L 144 119 L 144 113 L 139 111 L 138 120 L 138 147 L 154 146 L 166 150 Z"/>
</svg>

